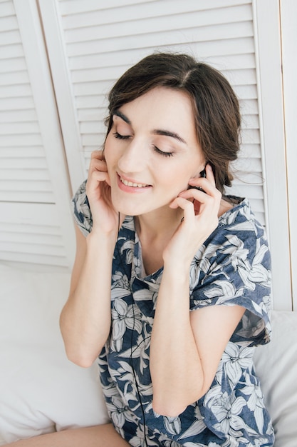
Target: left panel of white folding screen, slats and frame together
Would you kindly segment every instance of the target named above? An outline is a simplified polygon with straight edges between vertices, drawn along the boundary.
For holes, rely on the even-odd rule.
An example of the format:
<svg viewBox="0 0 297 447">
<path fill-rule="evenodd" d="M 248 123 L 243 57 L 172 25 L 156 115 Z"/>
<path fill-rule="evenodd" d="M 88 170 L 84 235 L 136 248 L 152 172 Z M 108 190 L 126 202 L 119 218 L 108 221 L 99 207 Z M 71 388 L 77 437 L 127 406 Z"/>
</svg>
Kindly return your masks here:
<svg viewBox="0 0 297 447">
<path fill-rule="evenodd" d="M 73 233 L 35 2 L 0 1 L 0 258 L 69 268 Z"/>
</svg>

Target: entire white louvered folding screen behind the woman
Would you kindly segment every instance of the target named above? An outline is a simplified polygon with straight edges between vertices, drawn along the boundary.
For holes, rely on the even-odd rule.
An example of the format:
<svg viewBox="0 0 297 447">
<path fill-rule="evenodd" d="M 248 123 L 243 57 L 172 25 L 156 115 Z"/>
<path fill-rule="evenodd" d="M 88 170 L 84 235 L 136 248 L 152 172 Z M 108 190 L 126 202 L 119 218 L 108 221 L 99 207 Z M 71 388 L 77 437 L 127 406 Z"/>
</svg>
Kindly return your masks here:
<svg viewBox="0 0 297 447">
<path fill-rule="evenodd" d="M 279 16 L 278 0 L 0 0 L 0 259 L 71 266 L 69 201 L 110 87 L 152 51 L 184 51 L 239 96 L 231 192 L 266 224 L 275 308 L 291 308 Z"/>
</svg>

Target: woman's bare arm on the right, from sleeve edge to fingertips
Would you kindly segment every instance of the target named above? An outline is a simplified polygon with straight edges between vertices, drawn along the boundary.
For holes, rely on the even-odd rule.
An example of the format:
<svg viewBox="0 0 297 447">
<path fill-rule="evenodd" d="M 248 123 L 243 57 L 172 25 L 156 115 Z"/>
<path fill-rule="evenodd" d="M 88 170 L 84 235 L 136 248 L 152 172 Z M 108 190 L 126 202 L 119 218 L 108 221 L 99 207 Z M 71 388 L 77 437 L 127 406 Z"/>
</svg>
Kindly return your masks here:
<svg viewBox="0 0 297 447">
<path fill-rule="evenodd" d="M 157 413 L 177 416 L 211 386 L 226 344 L 244 308 L 211 306 L 189 312 L 189 268 L 197 249 L 218 224 L 221 194 L 211 166 L 207 179 L 193 182 L 205 192 L 187 190 L 172 203 L 184 220 L 163 253 L 164 271 L 157 298 L 150 372 Z M 193 206 L 192 199 L 199 206 Z"/>
</svg>

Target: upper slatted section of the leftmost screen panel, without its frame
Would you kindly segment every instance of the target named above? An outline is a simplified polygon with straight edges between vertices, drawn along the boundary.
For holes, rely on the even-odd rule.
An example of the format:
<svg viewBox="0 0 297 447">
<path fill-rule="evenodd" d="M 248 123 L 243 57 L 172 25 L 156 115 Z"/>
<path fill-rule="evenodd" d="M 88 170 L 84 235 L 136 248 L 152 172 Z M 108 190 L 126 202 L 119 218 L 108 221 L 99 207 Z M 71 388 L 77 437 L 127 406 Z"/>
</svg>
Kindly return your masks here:
<svg viewBox="0 0 297 447">
<path fill-rule="evenodd" d="M 52 204 L 53 188 L 45 174 L 46 156 L 12 1 L 0 4 L 0 16 L 0 201 Z"/>
</svg>

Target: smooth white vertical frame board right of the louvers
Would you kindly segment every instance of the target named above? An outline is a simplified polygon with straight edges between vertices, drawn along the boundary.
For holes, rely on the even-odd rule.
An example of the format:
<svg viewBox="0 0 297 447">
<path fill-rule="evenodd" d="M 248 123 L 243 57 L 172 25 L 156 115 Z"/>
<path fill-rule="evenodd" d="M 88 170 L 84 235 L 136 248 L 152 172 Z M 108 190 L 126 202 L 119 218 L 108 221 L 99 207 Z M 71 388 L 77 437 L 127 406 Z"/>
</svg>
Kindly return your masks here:
<svg viewBox="0 0 297 447">
<path fill-rule="evenodd" d="M 276 309 L 291 310 L 291 281 L 296 277 L 296 272 L 292 270 L 288 228 L 288 165 L 283 116 L 281 39 L 284 30 L 280 27 L 279 6 L 279 0 L 254 0 L 261 146 L 266 166 L 266 216 L 269 218 L 267 230 L 272 258 L 273 305 Z M 295 42 L 292 44 L 295 49 Z M 294 54 L 295 51 L 292 51 L 292 56 Z"/>
</svg>

